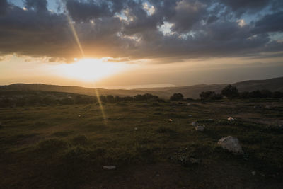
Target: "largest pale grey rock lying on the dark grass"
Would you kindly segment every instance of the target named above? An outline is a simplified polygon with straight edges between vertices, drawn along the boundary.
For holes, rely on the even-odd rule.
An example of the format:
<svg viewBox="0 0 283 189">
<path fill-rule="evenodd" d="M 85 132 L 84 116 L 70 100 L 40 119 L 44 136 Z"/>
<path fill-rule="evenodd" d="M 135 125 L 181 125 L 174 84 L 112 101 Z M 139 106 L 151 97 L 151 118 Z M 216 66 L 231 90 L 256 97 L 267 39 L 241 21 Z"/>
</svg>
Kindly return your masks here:
<svg viewBox="0 0 283 189">
<path fill-rule="evenodd" d="M 224 137 L 218 143 L 223 149 L 233 152 L 233 154 L 243 154 L 243 149 L 236 137 Z"/>
</svg>

